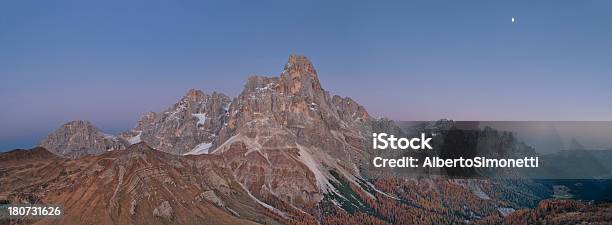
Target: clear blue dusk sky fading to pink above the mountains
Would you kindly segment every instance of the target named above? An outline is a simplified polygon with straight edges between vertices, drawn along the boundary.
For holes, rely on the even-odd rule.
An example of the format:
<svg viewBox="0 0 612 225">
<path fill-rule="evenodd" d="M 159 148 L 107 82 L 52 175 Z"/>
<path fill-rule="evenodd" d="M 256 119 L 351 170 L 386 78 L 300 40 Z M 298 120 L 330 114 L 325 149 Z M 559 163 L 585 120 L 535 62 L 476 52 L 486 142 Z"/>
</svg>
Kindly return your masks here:
<svg viewBox="0 0 612 225">
<path fill-rule="evenodd" d="M 511 18 L 515 17 L 515 23 Z M 396 120 L 612 120 L 612 2 L 1 1 L 0 150 L 132 128 L 306 55 Z"/>
</svg>

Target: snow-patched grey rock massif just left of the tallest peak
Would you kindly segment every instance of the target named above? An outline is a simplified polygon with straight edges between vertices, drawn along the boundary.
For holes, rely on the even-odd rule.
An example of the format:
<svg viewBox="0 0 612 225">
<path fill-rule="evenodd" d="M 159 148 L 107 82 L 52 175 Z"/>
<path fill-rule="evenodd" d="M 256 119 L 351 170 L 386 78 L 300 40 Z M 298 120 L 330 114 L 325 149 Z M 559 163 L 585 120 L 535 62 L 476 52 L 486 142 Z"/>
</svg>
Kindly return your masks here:
<svg viewBox="0 0 612 225">
<path fill-rule="evenodd" d="M 144 141 L 177 155 L 207 153 L 225 123 L 229 103 L 223 94 L 192 89 L 166 111 L 144 115 L 134 129 L 120 136 L 131 144 Z"/>
</svg>

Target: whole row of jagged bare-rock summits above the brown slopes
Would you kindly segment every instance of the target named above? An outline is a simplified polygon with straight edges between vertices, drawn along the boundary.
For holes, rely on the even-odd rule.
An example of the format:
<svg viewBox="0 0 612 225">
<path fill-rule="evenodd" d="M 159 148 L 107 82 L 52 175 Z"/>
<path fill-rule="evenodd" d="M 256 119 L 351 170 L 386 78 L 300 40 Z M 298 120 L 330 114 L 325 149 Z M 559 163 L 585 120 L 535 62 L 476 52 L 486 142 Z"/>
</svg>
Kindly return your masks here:
<svg viewBox="0 0 612 225">
<path fill-rule="evenodd" d="M 289 129 L 305 127 L 308 132 L 320 133 L 319 129 L 348 129 L 357 126 L 356 121 L 360 123 L 368 118 L 365 109 L 353 100 L 330 96 L 321 87 L 317 72 L 307 57 L 291 55 L 280 76 L 250 77 L 242 93 L 233 101 L 222 93 L 207 94 L 194 88 L 168 109 L 144 114 L 133 129 L 121 133 L 118 138 L 104 134 L 87 121 L 73 121 L 60 128 L 59 133 L 77 138 L 55 135 L 41 146 L 59 155 L 81 152 L 71 157 L 124 149 L 140 142 L 172 154 L 203 154 L 213 151 L 235 135 L 236 128 L 254 119 L 274 121 Z M 85 137 L 92 134 L 101 137 L 100 140 L 92 142 L 94 138 Z M 110 143 L 101 145 L 105 143 L 103 140 Z M 71 141 L 78 144 L 68 143 Z"/>
</svg>

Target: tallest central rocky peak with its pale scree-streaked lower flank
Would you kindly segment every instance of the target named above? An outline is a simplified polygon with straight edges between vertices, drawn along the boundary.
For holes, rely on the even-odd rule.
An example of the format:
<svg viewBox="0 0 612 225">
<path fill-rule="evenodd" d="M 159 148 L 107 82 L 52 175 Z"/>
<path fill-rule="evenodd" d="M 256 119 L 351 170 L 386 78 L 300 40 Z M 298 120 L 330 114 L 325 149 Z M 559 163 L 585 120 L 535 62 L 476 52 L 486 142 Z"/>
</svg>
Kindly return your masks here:
<svg viewBox="0 0 612 225">
<path fill-rule="evenodd" d="M 358 173 L 369 115 L 350 98 L 331 97 L 306 57 L 290 56 L 280 77 L 250 77 L 229 113 L 213 154 L 260 199 L 312 206 L 333 191 L 330 170 Z"/>
</svg>

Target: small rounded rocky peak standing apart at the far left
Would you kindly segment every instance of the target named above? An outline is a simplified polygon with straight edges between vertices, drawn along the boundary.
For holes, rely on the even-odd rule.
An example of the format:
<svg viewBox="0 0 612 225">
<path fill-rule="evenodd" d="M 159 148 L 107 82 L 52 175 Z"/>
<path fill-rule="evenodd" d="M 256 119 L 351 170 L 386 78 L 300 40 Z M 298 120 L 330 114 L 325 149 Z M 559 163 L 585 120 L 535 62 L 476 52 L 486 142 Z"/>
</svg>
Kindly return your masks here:
<svg viewBox="0 0 612 225">
<path fill-rule="evenodd" d="M 40 143 L 41 147 L 54 154 L 71 158 L 120 150 L 127 145 L 127 142 L 120 138 L 106 134 L 90 122 L 81 120 L 62 125 Z"/>
</svg>

